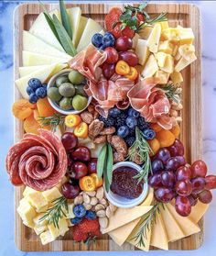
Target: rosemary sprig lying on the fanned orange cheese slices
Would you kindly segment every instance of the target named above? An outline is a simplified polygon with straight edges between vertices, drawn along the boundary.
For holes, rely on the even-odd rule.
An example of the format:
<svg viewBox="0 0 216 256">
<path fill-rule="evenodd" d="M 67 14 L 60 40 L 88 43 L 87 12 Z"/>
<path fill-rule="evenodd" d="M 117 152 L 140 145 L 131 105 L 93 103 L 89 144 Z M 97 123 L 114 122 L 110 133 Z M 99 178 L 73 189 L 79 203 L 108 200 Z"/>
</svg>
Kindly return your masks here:
<svg viewBox="0 0 216 256">
<path fill-rule="evenodd" d="M 136 241 L 136 246 L 145 247 L 145 239 L 147 238 L 147 232 L 150 230 L 152 225 L 157 223 L 157 213 L 160 214 L 159 206 L 163 207 L 162 203 L 156 203 L 149 212 L 147 212 L 137 224 L 139 226 L 135 236 L 132 238 Z"/>
</svg>

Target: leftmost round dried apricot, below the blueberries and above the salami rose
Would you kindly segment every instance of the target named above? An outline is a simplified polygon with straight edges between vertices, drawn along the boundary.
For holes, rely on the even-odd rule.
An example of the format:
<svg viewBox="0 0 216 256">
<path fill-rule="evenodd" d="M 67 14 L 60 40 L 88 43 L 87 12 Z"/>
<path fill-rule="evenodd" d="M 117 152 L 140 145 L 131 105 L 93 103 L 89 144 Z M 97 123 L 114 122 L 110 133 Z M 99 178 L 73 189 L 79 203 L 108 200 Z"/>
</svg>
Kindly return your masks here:
<svg viewBox="0 0 216 256">
<path fill-rule="evenodd" d="M 20 99 L 16 101 L 12 106 L 12 112 L 18 119 L 25 120 L 33 113 L 34 105 L 29 103 L 27 99 Z"/>
</svg>

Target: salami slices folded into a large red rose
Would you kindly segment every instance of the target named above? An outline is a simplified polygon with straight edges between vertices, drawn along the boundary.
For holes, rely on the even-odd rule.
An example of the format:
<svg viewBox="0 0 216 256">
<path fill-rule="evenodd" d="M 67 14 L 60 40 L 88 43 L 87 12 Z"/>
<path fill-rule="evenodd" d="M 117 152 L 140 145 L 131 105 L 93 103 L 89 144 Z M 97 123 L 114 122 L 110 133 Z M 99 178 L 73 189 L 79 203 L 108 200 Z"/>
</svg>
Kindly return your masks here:
<svg viewBox="0 0 216 256">
<path fill-rule="evenodd" d="M 39 135 L 25 134 L 6 157 L 11 183 L 25 184 L 38 191 L 59 184 L 67 166 L 67 154 L 61 141 L 47 129 L 39 129 Z"/>
</svg>

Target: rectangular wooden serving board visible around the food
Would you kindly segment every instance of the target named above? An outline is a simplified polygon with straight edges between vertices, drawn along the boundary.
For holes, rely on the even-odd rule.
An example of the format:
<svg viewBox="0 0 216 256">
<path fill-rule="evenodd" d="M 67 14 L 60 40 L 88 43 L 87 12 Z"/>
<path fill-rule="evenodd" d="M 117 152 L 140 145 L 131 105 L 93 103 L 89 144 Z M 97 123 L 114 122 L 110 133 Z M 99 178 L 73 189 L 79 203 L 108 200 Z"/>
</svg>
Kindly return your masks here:
<svg viewBox="0 0 216 256">
<path fill-rule="evenodd" d="M 79 4 L 68 5 L 81 6 L 82 15 L 92 17 L 94 20 L 103 25 L 105 14 L 113 6 L 113 4 Z M 123 7 L 118 4 L 116 6 Z M 49 10 L 57 8 L 57 5 L 47 5 Z M 33 21 L 42 12 L 42 8 L 38 4 L 24 4 L 18 6 L 14 15 L 14 71 L 15 79 L 18 78 L 18 67 L 22 65 L 22 32 L 28 30 Z M 171 26 L 181 25 L 183 27 L 191 27 L 195 34 L 195 47 L 198 60 L 192 63 L 184 72 L 184 83 L 182 85 L 183 94 L 183 111 L 181 113 L 183 122 L 181 124 L 181 140 L 186 148 L 187 160 L 193 161 L 200 159 L 202 155 L 202 101 L 201 101 L 201 42 L 200 42 L 200 10 L 197 6 L 189 4 L 149 4 L 147 12 L 151 15 L 168 13 L 168 20 Z M 21 95 L 14 87 L 15 100 Z M 24 134 L 23 124 L 18 119 L 15 120 L 15 141 L 22 139 Z M 23 197 L 23 188 L 16 188 L 15 208 L 18 206 L 19 200 Z M 16 211 L 15 211 L 16 212 Z M 82 243 L 76 243 L 72 240 L 71 232 L 68 232 L 64 238 L 42 246 L 38 236 L 33 230 L 22 224 L 21 218 L 16 213 L 15 226 L 16 246 L 19 250 L 135 250 L 134 246 L 125 244 L 123 247 L 115 245 L 112 239 L 104 235 L 101 239 L 97 239 L 96 243 L 92 243 L 89 247 Z M 171 227 L 170 227 L 171 228 Z M 200 221 L 200 233 L 192 235 L 188 238 L 169 243 L 170 250 L 195 250 L 198 249 L 203 240 L 203 221 Z M 151 248 L 155 250 L 155 248 Z"/>
</svg>

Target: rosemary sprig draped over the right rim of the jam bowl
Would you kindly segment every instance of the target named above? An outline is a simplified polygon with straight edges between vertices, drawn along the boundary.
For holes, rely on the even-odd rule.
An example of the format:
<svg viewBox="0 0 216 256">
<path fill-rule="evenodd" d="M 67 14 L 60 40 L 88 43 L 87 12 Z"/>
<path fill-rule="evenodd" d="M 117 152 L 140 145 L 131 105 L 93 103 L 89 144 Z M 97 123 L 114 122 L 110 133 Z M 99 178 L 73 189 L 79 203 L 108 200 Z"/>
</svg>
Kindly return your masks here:
<svg viewBox="0 0 216 256">
<path fill-rule="evenodd" d="M 149 156 L 151 151 L 142 131 L 139 128 L 135 128 L 135 142 L 128 150 L 128 159 L 130 161 L 137 159 L 143 164 L 141 172 L 134 177 L 138 179 L 138 183 L 142 180 L 146 181 L 148 174 L 151 173 L 151 159 Z"/>
</svg>

